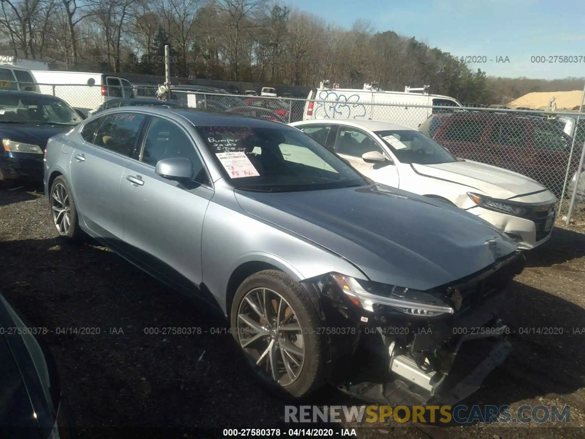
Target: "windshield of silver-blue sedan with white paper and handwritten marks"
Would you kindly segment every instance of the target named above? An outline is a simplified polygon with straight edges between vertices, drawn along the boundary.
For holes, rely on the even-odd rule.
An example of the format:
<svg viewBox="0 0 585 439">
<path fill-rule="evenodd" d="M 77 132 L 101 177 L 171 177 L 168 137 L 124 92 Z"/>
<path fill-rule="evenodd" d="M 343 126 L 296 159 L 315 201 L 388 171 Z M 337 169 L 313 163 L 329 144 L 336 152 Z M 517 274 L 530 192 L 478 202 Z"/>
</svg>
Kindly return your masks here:
<svg viewBox="0 0 585 439">
<path fill-rule="evenodd" d="M 308 191 L 369 183 L 297 129 L 199 126 L 197 131 L 223 176 L 238 189 Z"/>
</svg>

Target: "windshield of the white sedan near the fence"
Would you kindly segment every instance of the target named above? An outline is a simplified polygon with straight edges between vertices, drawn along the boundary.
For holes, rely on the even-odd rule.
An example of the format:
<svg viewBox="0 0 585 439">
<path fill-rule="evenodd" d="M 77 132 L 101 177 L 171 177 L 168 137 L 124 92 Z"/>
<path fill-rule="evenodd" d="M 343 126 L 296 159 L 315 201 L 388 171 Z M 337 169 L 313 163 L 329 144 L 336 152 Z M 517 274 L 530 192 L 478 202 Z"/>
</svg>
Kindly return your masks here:
<svg viewBox="0 0 585 439">
<path fill-rule="evenodd" d="M 376 131 L 400 163 L 439 164 L 457 162 L 448 150 L 414 130 Z"/>
</svg>

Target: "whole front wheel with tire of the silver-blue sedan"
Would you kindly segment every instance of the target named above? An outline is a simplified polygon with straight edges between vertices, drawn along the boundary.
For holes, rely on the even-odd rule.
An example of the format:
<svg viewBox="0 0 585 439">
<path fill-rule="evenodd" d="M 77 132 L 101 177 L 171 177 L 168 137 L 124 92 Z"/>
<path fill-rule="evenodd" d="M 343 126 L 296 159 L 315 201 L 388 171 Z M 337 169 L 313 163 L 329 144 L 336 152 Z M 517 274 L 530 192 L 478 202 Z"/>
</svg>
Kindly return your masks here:
<svg viewBox="0 0 585 439">
<path fill-rule="evenodd" d="M 264 270 L 247 277 L 230 315 L 233 337 L 268 390 L 301 399 L 324 385 L 321 319 L 288 275 Z"/>
</svg>

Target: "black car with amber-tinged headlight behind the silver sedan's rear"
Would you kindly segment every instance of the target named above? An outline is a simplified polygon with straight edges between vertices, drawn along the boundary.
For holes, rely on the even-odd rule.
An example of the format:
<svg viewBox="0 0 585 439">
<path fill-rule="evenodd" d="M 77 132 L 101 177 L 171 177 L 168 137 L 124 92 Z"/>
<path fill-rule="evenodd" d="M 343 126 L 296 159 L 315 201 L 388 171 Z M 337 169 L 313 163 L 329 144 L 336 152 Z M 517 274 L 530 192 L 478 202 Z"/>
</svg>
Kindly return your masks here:
<svg viewBox="0 0 585 439">
<path fill-rule="evenodd" d="M 0 91 L 0 184 L 43 181 L 47 139 L 82 117 L 65 101 L 27 91 Z"/>
</svg>

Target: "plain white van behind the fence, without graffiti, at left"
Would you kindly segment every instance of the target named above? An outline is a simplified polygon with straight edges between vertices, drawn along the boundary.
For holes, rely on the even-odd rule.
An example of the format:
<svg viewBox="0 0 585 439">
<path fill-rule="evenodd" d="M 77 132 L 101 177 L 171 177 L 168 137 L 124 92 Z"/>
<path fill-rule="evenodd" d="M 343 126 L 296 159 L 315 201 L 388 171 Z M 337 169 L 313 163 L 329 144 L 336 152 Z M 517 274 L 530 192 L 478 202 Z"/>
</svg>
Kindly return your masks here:
<svg viewBox="0 0 585 439">
<path fill-rule="evenodd" d="M 127 79 L 110 73 L 33 70 L 40 92 L 57 96 L 85 115 L 111 98 L 133 98 Z"/>
</svg>

